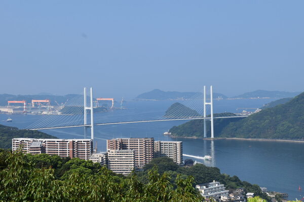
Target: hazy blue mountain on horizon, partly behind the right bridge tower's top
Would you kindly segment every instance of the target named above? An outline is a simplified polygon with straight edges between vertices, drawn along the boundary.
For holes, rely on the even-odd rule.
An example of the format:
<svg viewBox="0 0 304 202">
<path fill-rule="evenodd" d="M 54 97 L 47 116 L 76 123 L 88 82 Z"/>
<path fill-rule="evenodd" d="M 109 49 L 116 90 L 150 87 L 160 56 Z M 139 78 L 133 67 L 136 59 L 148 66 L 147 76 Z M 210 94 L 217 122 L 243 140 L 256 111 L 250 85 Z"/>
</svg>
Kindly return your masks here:
<svg viewBox="0 0 304 202">
<path fill-rule="evenodd" d="M 178 91 L 163 91 L 160 89 L 154 89 L 149 92 L 144 92 L 138 95 L 137 99 L 156 99 L 156 100 L 169 100 L 169 99 L 187 99 L 191 98 L 197 93 L 201 92 L 178 92 Z M 227 96 L 221 93 L 213 93 L 213 97 L 226 98 Z"/>
</svg>

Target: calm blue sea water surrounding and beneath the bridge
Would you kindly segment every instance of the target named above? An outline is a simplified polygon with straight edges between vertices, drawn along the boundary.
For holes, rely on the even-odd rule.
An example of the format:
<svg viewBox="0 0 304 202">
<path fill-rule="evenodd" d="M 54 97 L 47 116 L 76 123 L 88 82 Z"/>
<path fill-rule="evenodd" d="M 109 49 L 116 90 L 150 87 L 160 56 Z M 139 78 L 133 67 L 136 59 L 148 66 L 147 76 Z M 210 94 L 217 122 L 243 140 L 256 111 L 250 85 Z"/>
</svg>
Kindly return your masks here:
<svg viewBox="0 0 304 202">
<path fill-rule="evenodd" d="M 273 99 L 219 100 L 214 102 L 214 113 L 238 112 L 237 108 L 258 108 Z M 113 122 L 131 120 L 149 120 L 160 118 L 172 101 L 126 103 L 128 110 L 116 110 L 94 115 L 94 122 Z M 40 115 L 5 115 L 12 123 L 5 125 L 26 128 L 43 116 Z M 211 155 L 212 161 L 191 158 L 207 166 L 216 166 L 222 173 L 237 175 L 241 180 L 265 186 L 269 190 L 287 192 L 290 199 L 302 198 L 304 193 L 304 143 L 244 141 L 244 140 L 202 140 L 182 139 L 164 136 L 172 126 L 185 121 L 138 123 L 95 127 L 95 141 L 98 150 L 106 149 L 106 139 L 117 137 L 154 137 L 156 140 L 183 141 L 183 153 L 203 157 Z M 59 138 L 83 138 L 83 128 L 56 129 L 44 131 Z M 184 157 L 188 158 L 188 157 Z"/>
</svg>

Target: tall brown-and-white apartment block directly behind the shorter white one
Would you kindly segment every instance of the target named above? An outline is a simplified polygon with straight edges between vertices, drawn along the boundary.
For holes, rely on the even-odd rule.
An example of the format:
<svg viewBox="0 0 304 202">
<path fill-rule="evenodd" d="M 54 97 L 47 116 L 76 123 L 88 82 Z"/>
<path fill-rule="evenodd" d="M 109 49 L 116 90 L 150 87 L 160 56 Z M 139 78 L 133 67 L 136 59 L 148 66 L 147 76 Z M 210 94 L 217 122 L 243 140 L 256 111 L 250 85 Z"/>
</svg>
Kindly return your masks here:
<svg viewBox="0 0 304 202">
<path fill-rule="evenodd" d="M 107 150 L 134 150 L 135 167 L 140 168 L 154 158 L 154 138 L 116 138 L 107 140 Z"/>
</svg>

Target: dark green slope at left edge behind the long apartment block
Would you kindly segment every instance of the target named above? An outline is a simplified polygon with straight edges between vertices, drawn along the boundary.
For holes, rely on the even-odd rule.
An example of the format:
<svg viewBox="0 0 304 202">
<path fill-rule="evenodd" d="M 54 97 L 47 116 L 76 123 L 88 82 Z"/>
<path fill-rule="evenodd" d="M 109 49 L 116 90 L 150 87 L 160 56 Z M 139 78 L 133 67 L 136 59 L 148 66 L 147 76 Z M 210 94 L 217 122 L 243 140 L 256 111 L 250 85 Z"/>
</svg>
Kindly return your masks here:
<svg viewBox="0 0 304 202">
<path fill-rule="evenodd" d="M 35 130 L 19 130 L 15 127 L 0 125 L 0 148 L 12 148 L 12 139 L 26 138 L 57 138 Z"/>
</svg>

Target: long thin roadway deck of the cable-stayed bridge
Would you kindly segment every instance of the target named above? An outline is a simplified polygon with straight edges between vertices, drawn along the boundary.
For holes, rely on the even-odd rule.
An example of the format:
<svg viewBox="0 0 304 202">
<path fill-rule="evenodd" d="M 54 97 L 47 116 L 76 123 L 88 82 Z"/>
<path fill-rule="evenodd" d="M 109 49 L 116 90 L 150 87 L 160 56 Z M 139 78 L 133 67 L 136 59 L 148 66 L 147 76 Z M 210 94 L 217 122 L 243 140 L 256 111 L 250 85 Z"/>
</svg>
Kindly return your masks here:
<svg viewBox="0 0 304 202">
<path fill-rule="evenodd" d="M 235 117 L 213 117 L 213 119 L 225 119 L 225 118 L 243 118 L 247 116 L 235 116 Z M 94 126 L 104 126 L 104 125 L 117 125 L 117 124 L 130 124 L 130 123 L 149 123 L 149 122 L 161 122 L 161 121 L 182 121 L 182 120 L 198 120 L 198 119 L 210 119 L 210 117 L 200 117 L 200 118 L 182 118 L 182 119 L 163 119 L 163 120 L 149 120 L 149 121 L 127 121 L 127 122 L 115 122 L 115 123 L 98 123 Z M 48 129 L 60 129 L 60 128 L 78 128 L 78 127 L 90 127 L 87 125 L 74 125 L 74 126 L 58 126 L 49 128 L 34 128 L 29 130 L 48 130 Z"/>
</svg>

